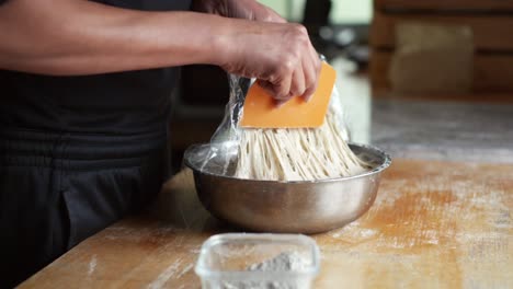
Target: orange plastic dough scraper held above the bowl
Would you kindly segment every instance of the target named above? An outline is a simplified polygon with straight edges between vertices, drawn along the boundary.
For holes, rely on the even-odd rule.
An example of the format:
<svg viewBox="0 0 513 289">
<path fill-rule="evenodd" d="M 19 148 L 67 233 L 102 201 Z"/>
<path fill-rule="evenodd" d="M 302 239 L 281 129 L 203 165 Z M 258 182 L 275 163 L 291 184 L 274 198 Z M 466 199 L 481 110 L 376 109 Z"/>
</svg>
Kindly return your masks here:
<svg viewBox="0 0 513 289">
<path fill-rule="evenodd" d="M 324 122 L 331 92 L 337 78 L 335 70 L 326 62 L 319 76 L 319 85 L 309 102 L 294 96 L 281 107 L 274 99 L 253 83 L 246 95 L 241 127 L 252 128 L 307 128 L 319 127 Z"/>
</svg>

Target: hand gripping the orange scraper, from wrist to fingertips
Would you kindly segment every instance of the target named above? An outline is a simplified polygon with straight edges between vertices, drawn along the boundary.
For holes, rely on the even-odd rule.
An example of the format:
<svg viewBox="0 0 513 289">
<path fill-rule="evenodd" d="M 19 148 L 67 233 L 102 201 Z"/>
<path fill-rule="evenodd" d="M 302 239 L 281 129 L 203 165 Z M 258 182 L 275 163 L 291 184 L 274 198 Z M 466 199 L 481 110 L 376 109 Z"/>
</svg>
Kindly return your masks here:
<svg viewBox="0 0 513 289">
<path fill-rule="evenodd" d="M 299 24 L 238 21 L 220 36 L 226 53 L 219 66 L 227 72 L 256 78 L 278 104 L 296 95 L 309 100 L 321 62 L 306 28 Z"/>
</svg>

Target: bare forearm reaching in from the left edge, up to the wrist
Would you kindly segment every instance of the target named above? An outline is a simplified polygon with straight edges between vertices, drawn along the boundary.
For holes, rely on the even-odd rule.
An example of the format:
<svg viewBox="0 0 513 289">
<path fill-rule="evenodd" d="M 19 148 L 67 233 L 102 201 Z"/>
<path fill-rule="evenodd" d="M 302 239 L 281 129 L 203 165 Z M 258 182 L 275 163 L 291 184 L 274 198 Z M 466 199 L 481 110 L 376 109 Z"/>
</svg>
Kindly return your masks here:
<svg viewBox="0 0 513 289">
<path fill-rule="evenodd" d="M 59 9 L 56 10 L 55 8 Z M 0 7 L 0 68 L 91 74 L 223 61 L 228 19 L 142 12 L 81 0 L 12 0 Z"/>
</svg>

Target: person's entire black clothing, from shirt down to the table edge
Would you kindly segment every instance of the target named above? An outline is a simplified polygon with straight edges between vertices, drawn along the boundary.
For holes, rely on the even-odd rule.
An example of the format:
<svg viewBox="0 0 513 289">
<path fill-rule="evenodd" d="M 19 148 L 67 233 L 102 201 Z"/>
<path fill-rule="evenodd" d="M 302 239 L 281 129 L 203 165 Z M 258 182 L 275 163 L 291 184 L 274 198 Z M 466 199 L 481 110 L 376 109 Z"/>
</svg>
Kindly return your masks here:
<svg viewBox="0 0 513 289">
<path fill-rule="evenodd" d="M 166 11 L 191 5 L 96 2 Z M 0 70 L 0 288 L 158 194 L 176 74 L 176 68 L 84 77 Z"/>
</svg>

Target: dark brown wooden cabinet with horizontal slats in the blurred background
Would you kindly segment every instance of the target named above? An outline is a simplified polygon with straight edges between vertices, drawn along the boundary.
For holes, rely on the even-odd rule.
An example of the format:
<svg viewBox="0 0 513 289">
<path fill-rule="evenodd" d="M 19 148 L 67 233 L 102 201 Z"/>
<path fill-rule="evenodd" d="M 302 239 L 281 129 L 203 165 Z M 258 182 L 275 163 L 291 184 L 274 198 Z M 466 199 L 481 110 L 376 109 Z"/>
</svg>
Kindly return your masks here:
<svg viewBox="0 0 513 289">
<path fill-rule="evenodd" d="M 375 0 L 371 79 L 389 89 L 399 23 L 465 25 L 474 34 L 474 92 L 513 92 L 513 0 Z"/>
</svg>

